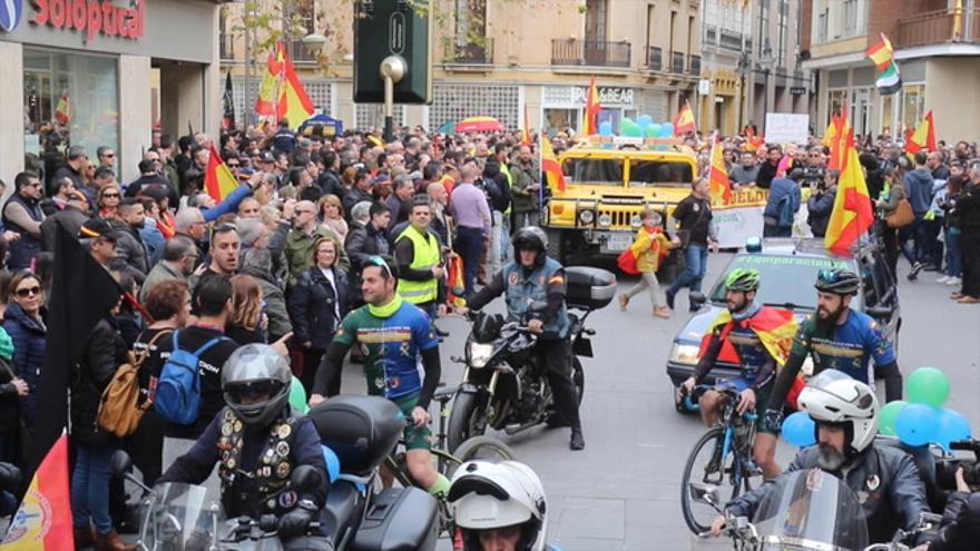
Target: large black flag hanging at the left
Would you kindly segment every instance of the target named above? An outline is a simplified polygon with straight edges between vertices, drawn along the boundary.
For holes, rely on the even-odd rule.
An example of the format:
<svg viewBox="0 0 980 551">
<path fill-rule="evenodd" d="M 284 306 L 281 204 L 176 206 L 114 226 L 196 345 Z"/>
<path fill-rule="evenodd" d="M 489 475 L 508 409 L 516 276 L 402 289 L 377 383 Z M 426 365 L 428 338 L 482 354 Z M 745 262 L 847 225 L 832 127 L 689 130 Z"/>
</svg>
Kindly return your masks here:
<svg viewBox="0 0 980 551">
<path fill-rule="evenodd" d="M 55 275 L 48 303 L 48 346 L 38 380 L 33 445 L 28 455 L 30 480 L 68 422 L 68 385 L 89 333 L 106 317 L 122 292 L 112 276 L 58 224 Z"/>
</svg>

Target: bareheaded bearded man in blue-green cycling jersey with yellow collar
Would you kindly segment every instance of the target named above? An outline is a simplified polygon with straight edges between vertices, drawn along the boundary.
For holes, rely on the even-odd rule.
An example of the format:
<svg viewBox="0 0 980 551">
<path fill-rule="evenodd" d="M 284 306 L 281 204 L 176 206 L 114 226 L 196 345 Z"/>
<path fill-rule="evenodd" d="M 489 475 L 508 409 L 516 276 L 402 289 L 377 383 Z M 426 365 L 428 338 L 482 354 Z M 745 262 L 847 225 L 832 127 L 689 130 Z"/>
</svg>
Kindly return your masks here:
<svg viewBox="0 0 980 551">
<path fill-rule="evenodd" d="M 391 400 L 410 420 L 404 430 L 409 473 L 429 493 L 441 496 L 449 491 L 449 480 L 433 466 L 429 444 L 429 402 L 442 372 L 439 340 L 429 316 L 396 293 L 398 283 L 398 269 L 388 259 L 366 258 L 361 270 L 366 304 L 341 322 L 316 372 L 310 405 L 332 395 L 330 388 L 340 388 L 331 383 L 341 376 L 347 351 L 360 345 L 367 394 Z"/>
</svg>

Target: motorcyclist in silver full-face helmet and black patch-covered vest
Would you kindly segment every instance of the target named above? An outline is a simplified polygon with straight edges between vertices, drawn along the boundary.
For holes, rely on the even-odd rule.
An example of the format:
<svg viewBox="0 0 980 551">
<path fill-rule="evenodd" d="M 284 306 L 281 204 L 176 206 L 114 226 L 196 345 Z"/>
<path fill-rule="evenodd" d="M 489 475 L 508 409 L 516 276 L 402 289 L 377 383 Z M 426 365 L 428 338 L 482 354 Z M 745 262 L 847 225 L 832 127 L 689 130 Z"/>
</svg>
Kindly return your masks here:
<svg viewBox="0 0 980 551">
<path fill-rule="evenodd" d="M 320 435 L 310 419 L 290 405 L 292 376 L 286 358 L 270 345 L 236 350 L 222 368 L 227 405 L 157 480 L 200 484 L 217 463 L 228 518 L 258 521 L 275 515 L 286 549 L 290 538 L 306 534 L 320 516 L 329 484 Z M 300 465 L 318 471 L 318 488 L 298 493 L 290 488 L 290 476 Z"/>
</svg>

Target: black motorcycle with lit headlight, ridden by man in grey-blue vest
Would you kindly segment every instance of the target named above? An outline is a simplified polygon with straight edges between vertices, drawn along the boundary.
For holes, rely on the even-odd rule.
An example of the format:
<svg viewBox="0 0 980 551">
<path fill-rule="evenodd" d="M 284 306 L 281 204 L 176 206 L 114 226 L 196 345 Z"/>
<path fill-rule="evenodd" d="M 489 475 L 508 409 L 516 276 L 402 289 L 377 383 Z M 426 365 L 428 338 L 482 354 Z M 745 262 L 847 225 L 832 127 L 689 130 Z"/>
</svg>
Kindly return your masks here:
<svg viewBox="0 0 980 551">
<path fill-rule="evenodd" d="M 585 372 L 579 357 L 592 357 L 589 337 L 595 335 L 585 326 L 586 318 L 612 301 L 616 276 L 590 267 L 568 267 L 565 272 L 572 381 L 580 403 Z M 514 434 L 537 426 L 555 411 L 546 366 L 533 353 L 538 336 L 527 324 L 504 323 L 499 314 L 482 312 L 470 313 L 469 317 L 472 328 L 465 356 L 452 358 L 464 364 L 465 371 L 449 417 L 449 450 L 484 434 L 488 427 Z"/>
</svg>

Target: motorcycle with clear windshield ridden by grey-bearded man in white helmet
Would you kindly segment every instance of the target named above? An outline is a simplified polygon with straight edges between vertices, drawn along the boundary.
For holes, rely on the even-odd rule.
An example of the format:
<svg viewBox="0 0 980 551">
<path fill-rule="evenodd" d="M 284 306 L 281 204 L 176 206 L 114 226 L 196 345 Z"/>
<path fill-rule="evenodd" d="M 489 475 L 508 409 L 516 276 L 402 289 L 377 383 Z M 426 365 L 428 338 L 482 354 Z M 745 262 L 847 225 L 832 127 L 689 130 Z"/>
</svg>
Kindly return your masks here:
<svg viewBox="0 0 980 551">
<path fill-rule="evenodd" d="M 941 515 L 922 513 L 914 530 L 899 530 L 888 543 L 870 544 L 854 491 L 820 469 L 787 473 L 775 481 L 755 511 L 754 522 L 722 509 L 717 486 L 690 484 L 690 498 L 726 516 L 724 535 L 736 551 L 908 551 L 915 539 L 939 527 Z M 699 534 L 710 537 L 710 532 Z"/>
</svg>

